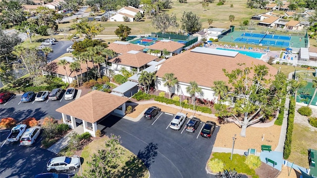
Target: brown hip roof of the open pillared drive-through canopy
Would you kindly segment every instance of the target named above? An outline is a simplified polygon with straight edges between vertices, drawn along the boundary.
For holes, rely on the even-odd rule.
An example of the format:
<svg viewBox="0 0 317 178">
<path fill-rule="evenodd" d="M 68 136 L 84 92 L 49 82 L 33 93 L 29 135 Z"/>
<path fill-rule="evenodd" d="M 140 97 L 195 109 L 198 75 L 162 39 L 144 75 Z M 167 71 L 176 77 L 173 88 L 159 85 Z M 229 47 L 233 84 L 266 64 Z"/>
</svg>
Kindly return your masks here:
<svg viewBox="0 0 317 178">
<path fill-rule="evenodd" d="M 93 90 L 56 111 L 84 121 L 95 123 L 127 102 L 129 98 L 117 96 L 99 90 Z"/>
</svg>

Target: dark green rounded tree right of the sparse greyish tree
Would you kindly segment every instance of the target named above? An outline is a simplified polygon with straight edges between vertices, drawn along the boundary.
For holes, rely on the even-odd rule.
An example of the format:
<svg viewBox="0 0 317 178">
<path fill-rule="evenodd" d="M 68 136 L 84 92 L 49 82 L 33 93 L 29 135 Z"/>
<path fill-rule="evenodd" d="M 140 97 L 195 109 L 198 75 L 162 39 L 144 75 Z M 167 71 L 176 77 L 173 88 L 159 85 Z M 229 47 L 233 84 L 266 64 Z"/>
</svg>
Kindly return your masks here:
<svg viewBox="0 0 317 178">
<path fill-rule="evenodd" d="M 186 30 L 187 32 L 195 33 L 202 29 L 200 17 L 194 14 L 192 11 L 184 11 L 180 22 L 182 23 L 182 29 Z"/>
</svg>

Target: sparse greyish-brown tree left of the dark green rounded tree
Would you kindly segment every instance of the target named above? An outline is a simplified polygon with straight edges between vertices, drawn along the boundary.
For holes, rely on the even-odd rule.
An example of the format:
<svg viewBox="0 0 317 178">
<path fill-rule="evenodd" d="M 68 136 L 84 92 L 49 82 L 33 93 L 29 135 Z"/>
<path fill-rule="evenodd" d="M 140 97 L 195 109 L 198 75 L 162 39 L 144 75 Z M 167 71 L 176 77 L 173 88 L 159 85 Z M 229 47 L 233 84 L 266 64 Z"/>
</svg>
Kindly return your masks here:
<svg viewBox="0 0 317 178">
<path fill-rule="evenodd" d="M 171 14 L 168 15 L 167 13 L 161 13 L 156 15 L 153 20 L 152 24 L 156 29 L 159 29 L 163 34 L 169 27 L 178 27 L 179 24 L 176 20 L 176 15 Z"/>
</svg>

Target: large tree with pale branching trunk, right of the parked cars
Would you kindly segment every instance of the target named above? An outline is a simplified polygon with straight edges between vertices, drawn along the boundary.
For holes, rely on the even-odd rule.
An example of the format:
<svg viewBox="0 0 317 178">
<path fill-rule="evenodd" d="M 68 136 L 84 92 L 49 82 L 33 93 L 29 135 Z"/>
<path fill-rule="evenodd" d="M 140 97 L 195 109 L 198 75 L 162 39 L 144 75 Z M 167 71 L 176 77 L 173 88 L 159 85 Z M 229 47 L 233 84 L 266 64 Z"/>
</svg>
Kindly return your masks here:
<svg viewBox="0 0 317 178">
<path fill-rule="evenodd" d="M 233 109 L 228 113 L 240 125 L 240 135 L 246 137 L 248 126 L 265 120 L 279 107 L 280 100 L 287 94 L 286 76 L 282 73 L 269 79 L 268 67 L 255 65 L 251 67 L 240 64 L 242 68 L 231 72 L 223 69 L 229 84 L 233 87 L 232 95 L 237 99 L 231 101 Z"/>
</svg>

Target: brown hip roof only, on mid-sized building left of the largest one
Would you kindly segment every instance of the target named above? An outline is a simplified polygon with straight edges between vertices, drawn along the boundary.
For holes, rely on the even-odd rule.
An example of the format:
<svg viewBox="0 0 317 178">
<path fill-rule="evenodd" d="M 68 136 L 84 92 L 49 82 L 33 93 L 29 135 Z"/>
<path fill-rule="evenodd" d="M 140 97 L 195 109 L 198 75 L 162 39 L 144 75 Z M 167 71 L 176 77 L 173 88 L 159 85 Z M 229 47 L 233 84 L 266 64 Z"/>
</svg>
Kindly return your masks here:
<svg viewBox="0 0 317 178">
<path fill-rule="evenodd" d="M 110 59 L 109 62 L 139 68 L 151 61 L 154 61 L 157 58 L 158 56 L 154 56 L 144 52 L 138 52 L 136 54 L 127 52 L 113 59 Z"/>
</svg>

